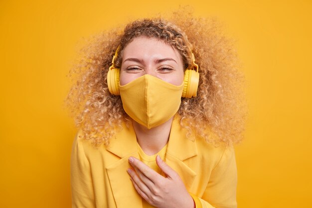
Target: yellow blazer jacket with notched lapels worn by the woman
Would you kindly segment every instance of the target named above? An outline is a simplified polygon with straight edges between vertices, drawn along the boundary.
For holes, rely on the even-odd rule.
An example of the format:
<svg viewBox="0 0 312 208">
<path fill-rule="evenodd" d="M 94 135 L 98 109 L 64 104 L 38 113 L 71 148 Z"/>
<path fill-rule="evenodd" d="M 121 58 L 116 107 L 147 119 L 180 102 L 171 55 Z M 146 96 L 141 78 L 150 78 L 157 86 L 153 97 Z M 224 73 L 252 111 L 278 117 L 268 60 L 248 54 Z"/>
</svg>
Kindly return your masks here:
<svg viewBox="0 0 312 208">
<path fill-rule="evenodd" d="M 110 145 L 95 149 L 79 138 L 72 147 L 72 208 L 142 208 L 127 169 L 128 158 L 139 158 L 133 127 L 124 127 Z M 202 139 L 185 137 L 173 120 L 165 162 L 181 177 L 203 208 L 236 208 L 237 172 L 233 147 L 215 148 Z"/>
</svg>

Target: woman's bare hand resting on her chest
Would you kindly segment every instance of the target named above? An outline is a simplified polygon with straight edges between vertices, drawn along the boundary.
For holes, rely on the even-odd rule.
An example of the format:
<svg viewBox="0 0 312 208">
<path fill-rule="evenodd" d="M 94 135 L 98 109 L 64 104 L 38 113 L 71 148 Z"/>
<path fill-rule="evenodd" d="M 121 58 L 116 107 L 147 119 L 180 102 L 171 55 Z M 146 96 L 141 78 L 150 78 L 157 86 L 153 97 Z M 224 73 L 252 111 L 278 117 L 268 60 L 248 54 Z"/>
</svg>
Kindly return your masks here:
<svg viewBox="0 0 312 208">
<path fill-rule="evenodd" d="M 156 163 L 166 175 L 163 177 L 149 166 L 130 157 L 134 169 L 128 169 L 131 181 L 143 199 L 157 208 L 194 208 L 192 197 L 188 194 L 179 175 L 165 164 L 157 155 Z"/>
</svg>

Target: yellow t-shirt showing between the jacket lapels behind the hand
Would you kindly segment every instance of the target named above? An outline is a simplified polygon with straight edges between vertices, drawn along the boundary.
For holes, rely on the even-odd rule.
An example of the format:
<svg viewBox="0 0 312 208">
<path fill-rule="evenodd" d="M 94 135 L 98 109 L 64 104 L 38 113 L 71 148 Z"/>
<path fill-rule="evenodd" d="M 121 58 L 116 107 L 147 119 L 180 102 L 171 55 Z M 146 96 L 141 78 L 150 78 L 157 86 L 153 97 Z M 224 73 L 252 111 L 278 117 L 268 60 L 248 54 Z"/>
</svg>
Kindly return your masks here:
<svg viewBox="0 0 312 208">
<path fill-rule="evenodd" d="M 142 148 L 140 147 L 140 145 L 138 143 L 137 143 L 137 147 L 138 147 L 138 153 L 139 153 L 139 156 L 140 156 L 140 160 L 144 164 L 146 164 L 147 166 L 152 168 L 154 171 L 156 171 L 158 174 L 163 175 L 162 171 L 157 166 L 156 156 L 159 155 L 161 160 L 165 161 L 165 155 L 166 155 L 166 151 L 167 151 L 167 144 L 158 153 L 156 153 L 155 155 L 147 155 L 147 154 L 145 154 L 144 151 L 142 150 Z M 142 199 L 142 204 L 143 204 L 143 208 L 155 208 L 154 206 L 150 205 L 144 199 Z"/>
</svg>

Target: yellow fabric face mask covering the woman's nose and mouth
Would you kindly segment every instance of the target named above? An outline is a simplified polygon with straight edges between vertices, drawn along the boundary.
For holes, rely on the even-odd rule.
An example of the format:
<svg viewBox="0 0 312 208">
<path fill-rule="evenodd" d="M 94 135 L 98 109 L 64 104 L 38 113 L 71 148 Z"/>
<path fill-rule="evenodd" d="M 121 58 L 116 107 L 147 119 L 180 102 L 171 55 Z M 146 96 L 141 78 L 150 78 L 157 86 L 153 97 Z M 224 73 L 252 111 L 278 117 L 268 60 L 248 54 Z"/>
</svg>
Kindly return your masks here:
<svg viewBox="0 0 312 208">
<path fill-rule="evenodd" d="M 168 121 L 178 111 L 183 85 L 176 86 L 146 74 L 119 86 L 119 90 L 126 113 L 151 129 Z"/>
</svg>

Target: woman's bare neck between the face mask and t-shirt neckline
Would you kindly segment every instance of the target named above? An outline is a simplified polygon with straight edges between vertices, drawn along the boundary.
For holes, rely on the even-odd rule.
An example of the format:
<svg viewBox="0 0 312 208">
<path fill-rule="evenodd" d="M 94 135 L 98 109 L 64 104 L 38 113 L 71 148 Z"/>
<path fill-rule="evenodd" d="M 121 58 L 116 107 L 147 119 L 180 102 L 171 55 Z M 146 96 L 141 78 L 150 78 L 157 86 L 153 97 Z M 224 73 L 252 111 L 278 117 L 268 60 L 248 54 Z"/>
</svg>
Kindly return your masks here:
<svg viewBox="0 0 312 208">
<path fill-rule="evenodd" d="M 148 129 L 133 120 L 133 128 L 136 132 L 138 143 L 145 154 L 155 155 L 167 144 L 173 117 L 152 129 Z"/>
</svg>

